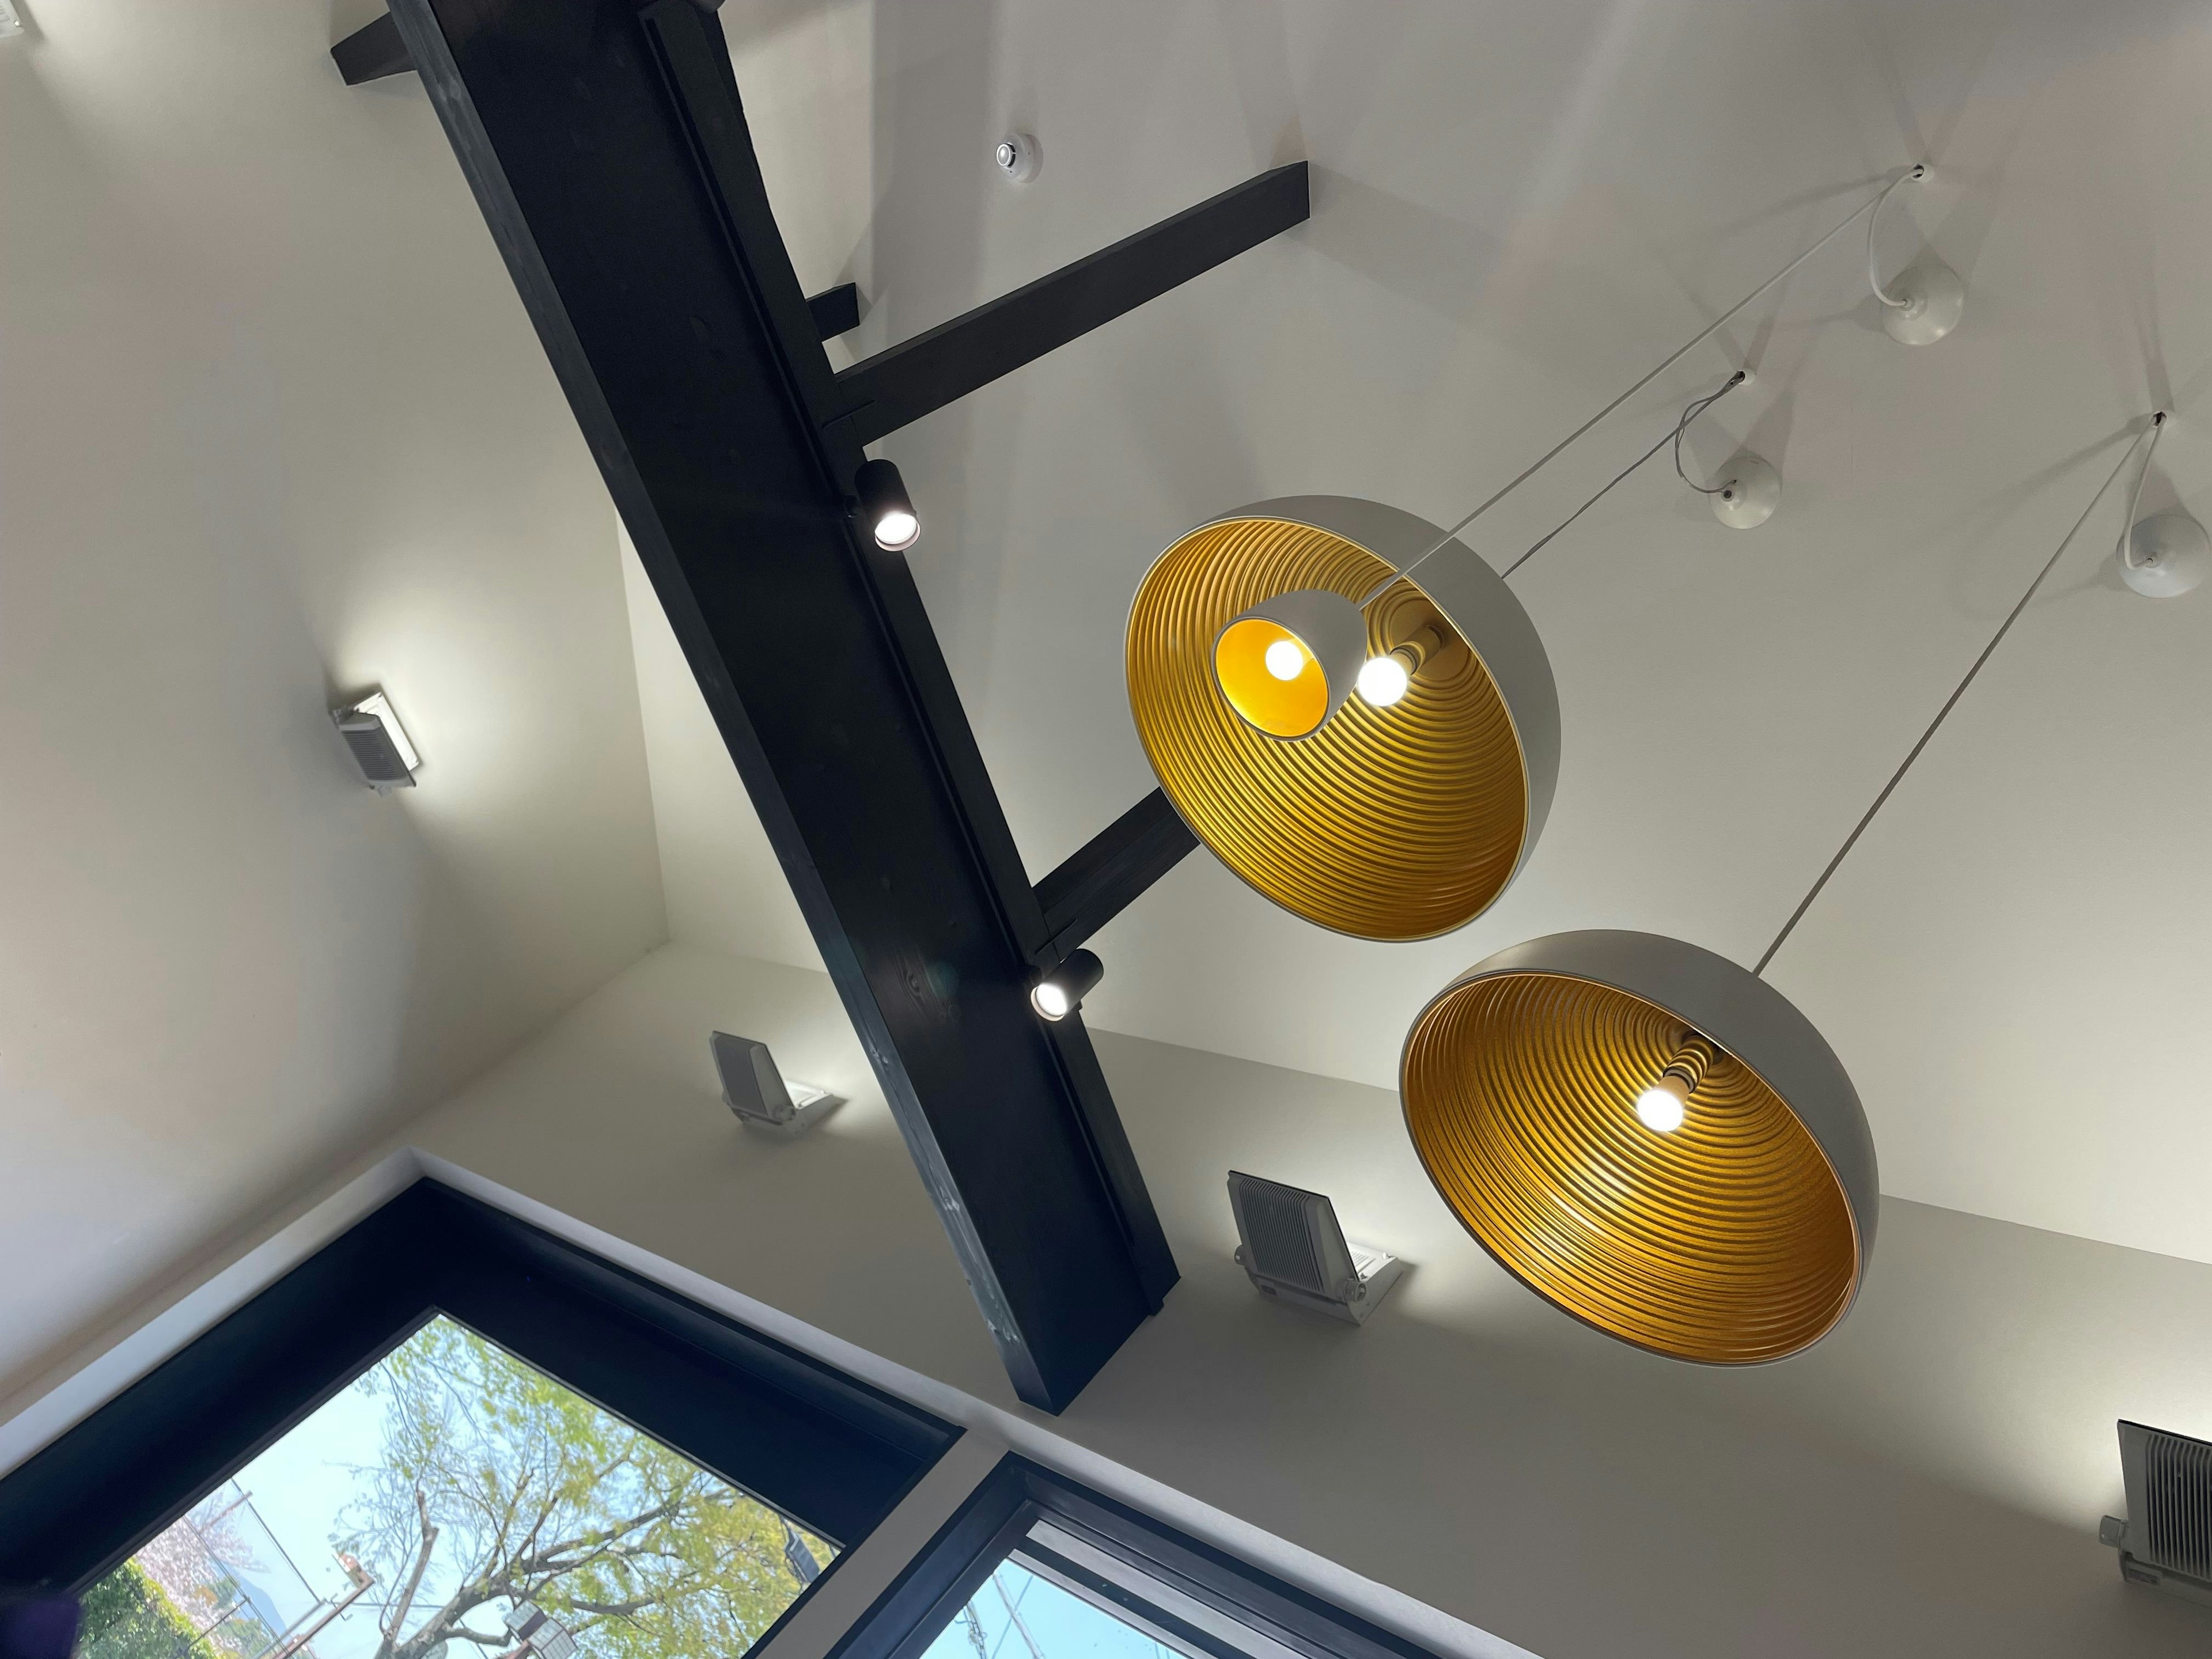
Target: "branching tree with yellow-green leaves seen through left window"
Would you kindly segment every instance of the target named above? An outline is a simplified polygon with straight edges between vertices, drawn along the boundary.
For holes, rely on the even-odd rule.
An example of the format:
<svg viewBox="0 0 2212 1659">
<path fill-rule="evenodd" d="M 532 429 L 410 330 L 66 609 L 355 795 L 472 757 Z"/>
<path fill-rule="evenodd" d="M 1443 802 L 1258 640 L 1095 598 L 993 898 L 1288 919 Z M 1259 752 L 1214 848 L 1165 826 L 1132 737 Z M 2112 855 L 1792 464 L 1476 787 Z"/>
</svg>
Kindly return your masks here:
<svg viewBox="0 0 2212 1659">
<path fill-rule="evenodd" d="M 498 1659 L 522 1601 L 591 1659 L 734 1659 L 832 1555 L 451 1321 L 358 1387 L 385 1447 L 332 1542 L 389 1586 L 376 1659 Z"/>
</svg>

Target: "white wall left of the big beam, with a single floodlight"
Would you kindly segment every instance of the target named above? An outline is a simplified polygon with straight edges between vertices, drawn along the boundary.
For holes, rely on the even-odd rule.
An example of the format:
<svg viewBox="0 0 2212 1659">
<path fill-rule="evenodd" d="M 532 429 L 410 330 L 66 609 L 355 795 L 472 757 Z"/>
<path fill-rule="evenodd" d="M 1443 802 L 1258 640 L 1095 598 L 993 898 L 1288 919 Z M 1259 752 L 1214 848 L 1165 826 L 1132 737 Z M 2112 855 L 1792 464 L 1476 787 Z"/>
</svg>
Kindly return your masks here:
<svg viewBox="0 0 2212 1659">
<path fill-rule="evenodd" d="M 615 515 L 420 86 L 338 82 L 380 4 L 22 11 L 0 1398 L 666 936 Z"/>
</svg>

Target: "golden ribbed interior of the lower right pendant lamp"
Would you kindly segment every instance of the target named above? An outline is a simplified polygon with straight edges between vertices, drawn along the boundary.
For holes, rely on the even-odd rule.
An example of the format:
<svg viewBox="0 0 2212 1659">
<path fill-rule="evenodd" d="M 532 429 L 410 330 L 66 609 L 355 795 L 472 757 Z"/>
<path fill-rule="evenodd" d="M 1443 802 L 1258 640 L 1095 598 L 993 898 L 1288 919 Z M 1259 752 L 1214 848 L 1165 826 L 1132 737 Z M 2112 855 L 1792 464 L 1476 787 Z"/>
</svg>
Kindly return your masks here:
<svg viewBox="0 0 2212 1659">
<path fill-rule="evenodd" d="M 1444 1203 L 1537 1294 L 1672 1358 L 1776 1360 L 1851 1305 L 1858 1234 L 1818 1144 L 1725 1046 L 1681 1128 L 1637 1121 L 1683 1031 L 1562 973 L 1469 980 L 1407 1037 L 1407 1128 Z"/>
</svg>

